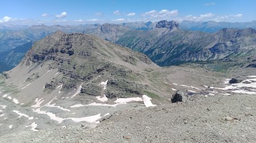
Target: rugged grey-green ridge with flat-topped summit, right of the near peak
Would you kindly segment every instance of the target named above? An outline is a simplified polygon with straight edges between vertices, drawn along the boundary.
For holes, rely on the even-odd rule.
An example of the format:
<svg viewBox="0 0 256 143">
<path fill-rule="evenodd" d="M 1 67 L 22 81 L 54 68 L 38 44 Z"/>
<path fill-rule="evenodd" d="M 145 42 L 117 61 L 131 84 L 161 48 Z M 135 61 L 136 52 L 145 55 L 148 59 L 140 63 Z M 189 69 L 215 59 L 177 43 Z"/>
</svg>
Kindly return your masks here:
<svg viewBox="0 0 256 143">
<path fill-rule="evenodd" d="M 129 31 L 116 43 L 141 51 L 160 66 L 246 59 L 256 54 L 256 30 L 252 28 L 224 28 L 216 33 L 205 33 L 183 30 L 177 25 L 172 28 L 163 26 L 148 31 Z"/>
</svg>

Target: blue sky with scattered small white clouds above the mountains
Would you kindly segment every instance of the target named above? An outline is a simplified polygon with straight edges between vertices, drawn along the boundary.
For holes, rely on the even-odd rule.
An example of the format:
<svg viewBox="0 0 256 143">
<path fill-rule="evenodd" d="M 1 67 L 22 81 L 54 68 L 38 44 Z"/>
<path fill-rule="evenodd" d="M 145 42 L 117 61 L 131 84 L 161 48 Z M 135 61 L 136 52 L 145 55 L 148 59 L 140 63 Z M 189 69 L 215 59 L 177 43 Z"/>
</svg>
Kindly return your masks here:
<svg viewBox="0 0 256 143">
<path fill-rule="evenodd" d="M 255 0 L 9 0 L 1 1 L 0 24 L 52 25 L 149 20 L 244 22 L 256 20 L 255 6 Z"/>
</svg>

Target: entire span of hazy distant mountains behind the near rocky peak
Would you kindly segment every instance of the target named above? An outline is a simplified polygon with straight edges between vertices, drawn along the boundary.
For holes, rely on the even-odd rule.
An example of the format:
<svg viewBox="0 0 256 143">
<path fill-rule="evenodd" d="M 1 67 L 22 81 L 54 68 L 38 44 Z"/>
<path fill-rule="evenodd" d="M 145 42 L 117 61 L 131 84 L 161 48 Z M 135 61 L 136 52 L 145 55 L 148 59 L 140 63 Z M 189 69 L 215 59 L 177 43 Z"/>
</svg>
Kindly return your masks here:
<svg viewBox="0 0 256 143">
<path fill-rule="evenodd" d="M 53 32 L 92 34 L 148 55 L 160 66 L 226 58 L 245 58 L 255 51 L 256 21 L 228 23 L 181 21 L 170 28 L 168 21 L 76 26 L 9 25 L 0 27 L 0 71 L 19 63 L 30 45 Z M 160 26 L 159 26 L 160 24 Z M 227 29 L 228 28 L 228 29 Z M 244 29 L 246 28 L 246 29 Z M 14 50 L 12 50 L 14 49 Z"/>
</svg>

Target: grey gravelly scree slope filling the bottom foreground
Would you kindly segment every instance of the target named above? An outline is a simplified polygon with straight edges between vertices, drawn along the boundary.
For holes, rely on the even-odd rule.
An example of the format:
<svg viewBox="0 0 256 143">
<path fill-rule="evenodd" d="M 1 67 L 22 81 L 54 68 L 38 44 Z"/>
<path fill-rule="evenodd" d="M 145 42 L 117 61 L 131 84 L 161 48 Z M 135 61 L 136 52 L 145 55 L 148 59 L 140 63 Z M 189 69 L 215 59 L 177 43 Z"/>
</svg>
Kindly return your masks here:
<svg viewBox="0 0 256 143">
<path fill-rule="evenodd" d="M 195 96 L 191 101 L 115 112 L 90 127 L 11 133 L 1 142 L 256 142 L 251 94 Z"/>
</svg>

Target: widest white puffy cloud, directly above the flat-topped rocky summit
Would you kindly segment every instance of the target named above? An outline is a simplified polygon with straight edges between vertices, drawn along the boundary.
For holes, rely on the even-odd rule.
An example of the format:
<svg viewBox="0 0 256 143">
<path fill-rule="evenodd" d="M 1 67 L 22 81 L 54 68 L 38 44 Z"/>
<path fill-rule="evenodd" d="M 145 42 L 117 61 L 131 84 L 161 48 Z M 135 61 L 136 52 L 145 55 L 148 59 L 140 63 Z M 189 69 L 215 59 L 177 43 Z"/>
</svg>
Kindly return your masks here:
<svg viewBox="0 0 256 143">
<path fill-rule="evenodd" d="M 178 10 L 161 10 L 161 11 L 156 11 L 156 10 L 151 10 L 148 12 L 145 12 L 142 14 L 142 16 L 150 16 L 151 18 L 164 18 L 164 17 L 171 17 L 171 16 L 177 16 L 178 15 Z"/>
</svg>

